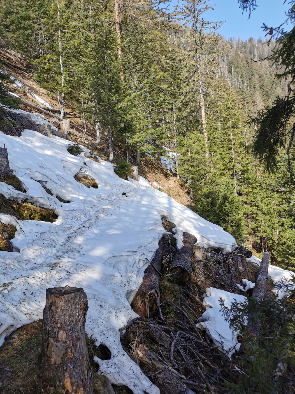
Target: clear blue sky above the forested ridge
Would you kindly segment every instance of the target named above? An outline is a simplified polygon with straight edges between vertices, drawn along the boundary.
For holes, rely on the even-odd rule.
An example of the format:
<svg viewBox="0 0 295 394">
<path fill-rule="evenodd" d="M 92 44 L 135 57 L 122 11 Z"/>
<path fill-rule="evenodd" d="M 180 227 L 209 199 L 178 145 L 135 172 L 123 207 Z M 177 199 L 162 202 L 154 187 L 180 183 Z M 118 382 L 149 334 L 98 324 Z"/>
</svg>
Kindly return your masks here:
<svg viewBox="0 0 295 394">
<path fill-rule="evenodd" d="M 210 0 L 210 4 L 215 4 L 214 10 L 207 11 L 205 19 L 210 21 L 226 20 L 219 29 L 219 33 L 226 38 L 240 37 L 244 41 L 249 37 L 264 37 L 260 26 L 262 23 L 269 27 L 278 26 L 285 20 L 285 12 L 288 11 L 288 0 L 284 4 L 284 0 L 257 0 L 259 7 L 251 12 L 248 20 L 248 13 L 242 14 L 239 8 L 238 0 Z M 172 0 L 172 4 L 176 5 L 177 0 Z"/>
</svg>

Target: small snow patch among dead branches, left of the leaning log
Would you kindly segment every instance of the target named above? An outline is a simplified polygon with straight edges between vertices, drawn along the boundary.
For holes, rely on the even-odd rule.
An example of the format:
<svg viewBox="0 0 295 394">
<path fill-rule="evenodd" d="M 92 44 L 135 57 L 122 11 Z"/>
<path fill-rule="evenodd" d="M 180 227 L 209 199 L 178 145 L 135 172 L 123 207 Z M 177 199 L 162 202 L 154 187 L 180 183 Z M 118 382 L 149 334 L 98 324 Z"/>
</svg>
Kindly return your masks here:
<svg viewBox="0 0 295 394">
<path fill-rule="evenodd" d="M 237 340 L 237 332 L 224 320 L 219 299 L 222 298 L 225 307 L 229 308 L 234 301 L 244 302 L 247 298 L 214 287 L 207 287 L 205 291 L 203 305 L 206 310 L 197 326 L 204 328 L 214 344 L 231 357 L 235 351 L 238 351 L 240 344 Z"/>
</svg>

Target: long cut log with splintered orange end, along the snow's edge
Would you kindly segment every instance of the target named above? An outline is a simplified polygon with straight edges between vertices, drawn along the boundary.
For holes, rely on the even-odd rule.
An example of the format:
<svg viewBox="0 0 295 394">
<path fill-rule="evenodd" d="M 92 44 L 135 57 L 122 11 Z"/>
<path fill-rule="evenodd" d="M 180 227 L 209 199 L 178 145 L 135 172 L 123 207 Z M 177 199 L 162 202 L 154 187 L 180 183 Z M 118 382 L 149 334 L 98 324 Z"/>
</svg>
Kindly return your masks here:
<svg viewBox="0 0 295 394">
<path fill-rule="evenodd" d="M 162 264 L 164 236 L 159 241 L 159 248 L 151 260 L 151 264 L 144 271 L 142 284 L 132 300 L 131 308 L 147 319 L 152 318 L 160 310 L 159 282 Z"/>
</svg>

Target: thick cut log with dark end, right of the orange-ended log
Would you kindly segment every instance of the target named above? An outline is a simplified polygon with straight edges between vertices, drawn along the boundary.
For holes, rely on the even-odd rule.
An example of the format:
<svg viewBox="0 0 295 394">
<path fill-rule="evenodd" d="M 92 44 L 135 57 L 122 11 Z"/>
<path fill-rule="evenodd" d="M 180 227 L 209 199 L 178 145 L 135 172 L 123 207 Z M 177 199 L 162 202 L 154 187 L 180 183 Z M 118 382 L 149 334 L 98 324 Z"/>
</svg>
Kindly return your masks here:
<svg viewBox="0 0 295 394">
<path fill-rule="evenodd" d="M 196 242 L 194 235 L 186 231 L 183 233 L 183 247 L 176 252 L 169 269 L 169 273 L 175 275 L 177 284 L 186 284 L 190 279 L 193 247 Z"/>
</svg>

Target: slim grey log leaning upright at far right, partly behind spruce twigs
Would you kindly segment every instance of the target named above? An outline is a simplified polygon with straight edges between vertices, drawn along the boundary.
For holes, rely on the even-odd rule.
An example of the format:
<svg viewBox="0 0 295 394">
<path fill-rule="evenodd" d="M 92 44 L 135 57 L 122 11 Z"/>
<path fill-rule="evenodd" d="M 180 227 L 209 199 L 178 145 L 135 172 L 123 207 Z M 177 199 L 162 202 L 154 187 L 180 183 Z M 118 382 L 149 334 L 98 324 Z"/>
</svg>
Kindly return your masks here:
<svg viewBox="0 0 295 394">
<path fill-rule="evenodd" d="M 258 269 L 258 275 L 253 289 L 252 298 L 256 302 L 260 302 L 264 299 L 266 290 L 266 281 L 268 276 L 268 265 L 269 265 L 269 253 L 264 252 L 262 260 Z M 255 311 L 250 314 L 248 318 L 247 331 L 250 335 L 257 337 L 260 332 L 261 320 L 255 317 Z M 256 344 L 254 344 L 256 346 Z"/>
</svg>

